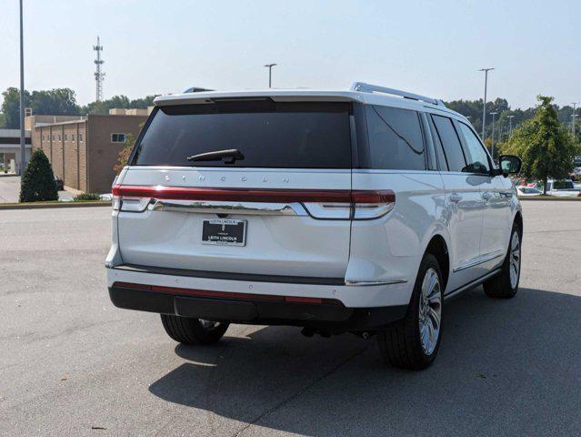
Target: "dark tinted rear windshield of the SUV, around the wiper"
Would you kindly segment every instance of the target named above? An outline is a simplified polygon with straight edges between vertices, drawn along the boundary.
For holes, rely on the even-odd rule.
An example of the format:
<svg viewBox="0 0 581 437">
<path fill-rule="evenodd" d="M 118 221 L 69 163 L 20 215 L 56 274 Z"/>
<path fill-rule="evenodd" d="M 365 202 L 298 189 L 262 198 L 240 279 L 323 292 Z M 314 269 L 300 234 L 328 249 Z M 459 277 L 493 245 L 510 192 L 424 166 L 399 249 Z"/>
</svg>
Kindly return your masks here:
<svg viewBox="0 0 581 437">
<path fill-rule="evenodd" d="M 158 107 L 133 165 L 236 168 L 351 168 L 350 103 L 270 99 Z M 244 158 L 188 160 L 237 149 Z M 230 161 L 232 161 L 230 159 Z"/>
</svg>

